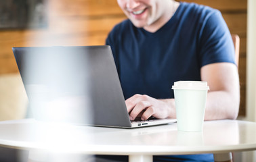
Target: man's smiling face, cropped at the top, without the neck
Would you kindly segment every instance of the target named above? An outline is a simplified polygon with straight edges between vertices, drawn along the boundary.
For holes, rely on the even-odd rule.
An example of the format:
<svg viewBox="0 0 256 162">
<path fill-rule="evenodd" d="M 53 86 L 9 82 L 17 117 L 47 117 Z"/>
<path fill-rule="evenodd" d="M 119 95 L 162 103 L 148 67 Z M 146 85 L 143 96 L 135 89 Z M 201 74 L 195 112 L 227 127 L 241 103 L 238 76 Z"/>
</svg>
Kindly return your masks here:
<svg viewBox="0 0 256 162">
<path fill-rule="evenodd" d="M 117 0 L 125 15 L 137 28 L 157 23 L 163 16 L 165 0 Z"/>
</svg>

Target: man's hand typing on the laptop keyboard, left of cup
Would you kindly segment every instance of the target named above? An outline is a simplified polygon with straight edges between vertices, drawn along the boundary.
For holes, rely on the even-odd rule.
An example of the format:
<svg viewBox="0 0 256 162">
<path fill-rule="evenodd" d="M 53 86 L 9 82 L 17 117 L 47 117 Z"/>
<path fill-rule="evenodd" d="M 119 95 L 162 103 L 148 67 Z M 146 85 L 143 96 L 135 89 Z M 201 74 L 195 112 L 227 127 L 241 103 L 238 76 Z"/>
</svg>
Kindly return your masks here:
<svg viewBox="0 0 256 162">
<path fill-rule="evenodd" d="M 130 119 L 141 117 L 146 120 L 151 116 L 158 119 L 170 117 L 172 99 L 154 99 L 148 95 L 135 94 L 125 101 Z M 174 100 L 173 100 L 174 103 Z M 174 112 L 175 113 L 175 112 Z"/>
</svg>

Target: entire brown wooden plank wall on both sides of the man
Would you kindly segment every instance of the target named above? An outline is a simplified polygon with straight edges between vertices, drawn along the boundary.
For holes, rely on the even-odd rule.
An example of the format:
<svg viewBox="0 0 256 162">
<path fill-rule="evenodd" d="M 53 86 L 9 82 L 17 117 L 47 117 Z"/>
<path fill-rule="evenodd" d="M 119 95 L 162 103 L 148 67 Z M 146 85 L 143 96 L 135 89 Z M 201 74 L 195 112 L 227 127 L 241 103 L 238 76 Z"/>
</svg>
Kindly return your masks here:
<svg viewBox="0 0 256 162">
<path fill-rule="evenodd" d="M 245 115 L 247 0 L 185 0 L 219 9 L 230 32 L 240 36 L 240 113 Z M 12 47 L 104 45 L 114 24 L 125 19 L 116 0 L 48 0 L 45 29 L 0 30 L 0 74 L 16 73 Z"/>
</svg>

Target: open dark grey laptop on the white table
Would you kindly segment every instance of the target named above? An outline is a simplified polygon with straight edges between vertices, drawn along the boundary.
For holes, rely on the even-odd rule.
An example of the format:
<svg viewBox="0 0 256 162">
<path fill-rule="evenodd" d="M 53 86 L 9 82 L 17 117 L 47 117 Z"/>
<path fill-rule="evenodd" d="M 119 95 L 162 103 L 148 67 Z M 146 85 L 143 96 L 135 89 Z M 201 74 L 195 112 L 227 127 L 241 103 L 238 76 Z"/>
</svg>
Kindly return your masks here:
<svg viewBox="0 0 256 162">
<path fill-rule="evenodd" d="M 13 47 L 33 118 L 136 128 L 176 119 L 130 121 L 110 46 Z"/>
</svg>

